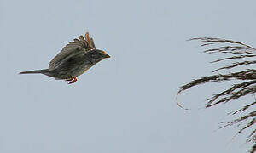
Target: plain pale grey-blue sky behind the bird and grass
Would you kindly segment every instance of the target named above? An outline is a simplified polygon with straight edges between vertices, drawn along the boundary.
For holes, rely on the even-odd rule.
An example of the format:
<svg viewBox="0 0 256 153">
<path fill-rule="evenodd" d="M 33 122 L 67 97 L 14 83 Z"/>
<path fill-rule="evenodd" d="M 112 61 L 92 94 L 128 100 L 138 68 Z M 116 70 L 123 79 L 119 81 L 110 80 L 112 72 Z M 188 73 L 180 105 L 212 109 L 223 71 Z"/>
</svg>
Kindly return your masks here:
<svg viewBox="0 0 256 153">
<path fill-rule="evenodd" d="M 255 1 L 0 0 L 0 152 L 241 153 L 247 133 L 217 130 L 243 105 L 201 109 L 223 87 L 180 86 L 211 74 L 216 57 L 191 37 L 256 46 Z M 44 75 L 50 59 L 86 31 L 110 59 L 68 85 Z M 221 56 L 217 56 L 221 57 Z M 247 100 L 252 99 L 247 97 Z"/>
</svg>

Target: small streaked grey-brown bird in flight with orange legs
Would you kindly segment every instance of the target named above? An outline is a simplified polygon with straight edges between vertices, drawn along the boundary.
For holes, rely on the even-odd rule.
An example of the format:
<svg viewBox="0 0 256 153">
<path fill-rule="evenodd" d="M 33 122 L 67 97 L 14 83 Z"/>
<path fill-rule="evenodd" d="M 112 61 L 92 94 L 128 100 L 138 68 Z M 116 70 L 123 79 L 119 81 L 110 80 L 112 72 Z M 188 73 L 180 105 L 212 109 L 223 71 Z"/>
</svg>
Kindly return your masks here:
<svg viewBox="0 0 256 153">
<path fill-rule="evenodd" d="M 55 80 L 65 80 L 68 84 L 76 82 L 80 75 L 102 59 L 110 58 L 103 50 L 97 49 L 89 32 L 69 42 L 50 62 L 49 68 L 35 71 L 22 71 L 20 74 L 44 74 Z"/>
</svg>

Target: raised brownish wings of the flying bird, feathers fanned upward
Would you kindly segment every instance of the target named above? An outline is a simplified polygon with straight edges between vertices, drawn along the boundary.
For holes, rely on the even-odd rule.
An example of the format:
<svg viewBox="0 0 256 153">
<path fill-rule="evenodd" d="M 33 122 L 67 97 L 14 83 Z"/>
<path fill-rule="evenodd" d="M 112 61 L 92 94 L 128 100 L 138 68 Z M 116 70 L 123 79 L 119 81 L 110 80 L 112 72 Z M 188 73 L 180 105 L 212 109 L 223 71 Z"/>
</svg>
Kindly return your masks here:
<svg viewBox="0 0 256 153">
<path fill-rule="evenodd" d="M 61 52 L 57 54 L 55 58 L 49 62 L 49 70 L 55 69 L 55 67 L 61 64 L 61 61 L 63 59 L 66 59 L 74 52 L 90 51 L 91 49 L 93 49 L 90 46 L 91 44 L 90 44 L 89 32 L 86 32 L 85 39 L 83 36 L 79 36 L 79 39 L 74 39 L 73 42 L 69 42 L 64 48 L 62 48 Z M 94 46 L 94 43 L 93 43 L 93 46 Z"/>
</svg>

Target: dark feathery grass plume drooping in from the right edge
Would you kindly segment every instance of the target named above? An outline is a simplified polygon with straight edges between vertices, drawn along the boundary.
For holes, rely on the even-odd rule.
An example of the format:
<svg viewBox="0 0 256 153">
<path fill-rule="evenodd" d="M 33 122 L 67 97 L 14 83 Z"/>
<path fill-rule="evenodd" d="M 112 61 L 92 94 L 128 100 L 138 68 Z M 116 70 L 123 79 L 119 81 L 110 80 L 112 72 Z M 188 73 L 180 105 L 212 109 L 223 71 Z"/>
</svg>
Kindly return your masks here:
<svg viewBox="0 0 256 153">
<path fill-rule="evenodd" d="M 189 88 L 210 83 L 210 82 L 230 82 L 230 81 L 239 81 L 239 83 L 233 83 L 229 88 L 223 91 L 217 91 L 218 94 L 213 94 L 211 98 L 207 99 L 206 108 L 231 103 L 236 99 L 240 99 L 241 97 L 253 95 L 256 92 L 256 70 L 253 68 L 246 68 L 241 71 L 236 71 L 235 68 L 240 67 L 242 65 L 252 66 L 256 64 L 256 60 L 254 57 L 256 56 L 256 49 L 248 46 L 242 42 L 236 42 L 232 40 L 212 38 L 212 37 L 198 37 L 189 39 L 189 41 L 199 41 L 202 47 L 212 47 L 213 45 L 218 45 L 217 47 L 207 48 L 204 50 L 205 54 L 224 54 L 223 59 L 216 59 L 211 63 L 219 63 L 222 61 L 232 62 L 231 64 L 224 65 L 216 70 L 213 70 L 212 73 L 218 72 L 218 74 L 213 74 L 207 77 L 201 77 L 195 79 L 182 87 L 180 87 L 177 92 L 177 97 L 183 91 L 188 90 Z M 221 72 L 219 72 L 221 71 Z M 226 87 L 226 85 L 224 86 Z M 176 97 L 176 99 L 177 99 Z M 232 111 L 228 113 L 229 115 L 239 114 L 244 111 L 250 111 L 247 115 L 241 115 L 241 117 L 234 119 L 232 122 L 225 122 L 223 127 L 240 125 L 241 122 L 247 122 L 246 125 L 240 127 L 237 134 L 244 132 L 245 130 L 251 130 L 252 132 L 247 137 L 247 142 L 253 144 L 250 153 L 256 151 L 256 111 L 253 111 L 253 106 L 256 105 L 256 99 L 254 101 L 244 102 L 244 106 L 239 108 L 236 111 Z M 184 107 L 179 104 L 177 101 L 177 105 Z M 222 128 L 222 127 L 220 127 Z"/>
</svg>

